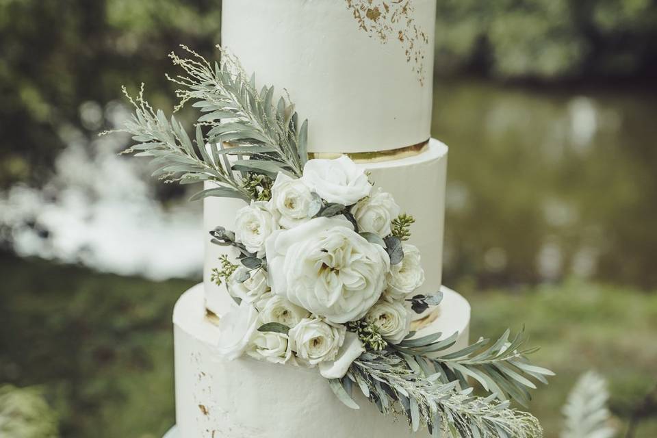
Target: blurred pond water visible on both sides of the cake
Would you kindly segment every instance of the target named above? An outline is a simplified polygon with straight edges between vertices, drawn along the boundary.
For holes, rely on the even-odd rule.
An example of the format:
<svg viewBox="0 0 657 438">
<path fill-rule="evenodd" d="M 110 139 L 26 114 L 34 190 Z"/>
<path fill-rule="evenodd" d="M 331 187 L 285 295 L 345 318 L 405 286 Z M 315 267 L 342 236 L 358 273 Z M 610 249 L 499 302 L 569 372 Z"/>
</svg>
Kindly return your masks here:
<svg viewBox="0 0 657 438">
<path fill-rule="evenodd" d="M 116 155 L 127 139 L 94 134 L 122 108 L 81 105 L 87 131 L 62 127 L 53 180 L 0 194 L 0 238 L 120 274 L 198 275 L 201 203 L 155 201 L 146 161 Z M 656 118 L 645 90 L 436 83 L 433 136 L 450 146 L 446 284 L 657 287 Z"/>
</svg>

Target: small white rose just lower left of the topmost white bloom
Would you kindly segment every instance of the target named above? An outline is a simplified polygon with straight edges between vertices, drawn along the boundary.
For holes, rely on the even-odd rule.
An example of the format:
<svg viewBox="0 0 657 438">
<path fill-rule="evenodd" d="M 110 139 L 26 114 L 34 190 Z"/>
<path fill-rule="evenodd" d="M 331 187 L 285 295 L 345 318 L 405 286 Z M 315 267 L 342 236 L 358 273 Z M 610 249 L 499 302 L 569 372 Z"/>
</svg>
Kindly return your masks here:
<svg viewBox="0 0 657 438">
<path fill-rule="evenodd" d="M 310 220 L 309 212 L 313 195 L 308 186 L 300 179 L 288 177 L 282 172 L 272 187 L 272 207 L 281 214 L 281 227 L 294 228 Z"/>
</svg>

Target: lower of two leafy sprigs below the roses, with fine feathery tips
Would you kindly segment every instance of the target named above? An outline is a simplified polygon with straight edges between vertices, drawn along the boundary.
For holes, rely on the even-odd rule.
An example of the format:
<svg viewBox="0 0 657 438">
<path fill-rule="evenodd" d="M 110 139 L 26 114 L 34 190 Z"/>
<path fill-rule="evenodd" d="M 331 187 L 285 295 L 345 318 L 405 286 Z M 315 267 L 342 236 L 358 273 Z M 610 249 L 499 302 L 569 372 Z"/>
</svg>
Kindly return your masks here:
<svg viewBox="0 0 657 438">
<path fill-rule="evenodd" d="M 538 438 L 538 420 L 509 407 L 508 401 L 474 397 L 457 383 L 441 383 L 439 376 L 413 370 L 397 353 L 368 352 L 354 361 L 347 375 L 331 381 L 331 388 L 348 407 L 357 409 L 353 387 L 376 404 L 381 413 L 400 413 L 413 430 L 428 426 L 433 437 Z"/>
</svg>

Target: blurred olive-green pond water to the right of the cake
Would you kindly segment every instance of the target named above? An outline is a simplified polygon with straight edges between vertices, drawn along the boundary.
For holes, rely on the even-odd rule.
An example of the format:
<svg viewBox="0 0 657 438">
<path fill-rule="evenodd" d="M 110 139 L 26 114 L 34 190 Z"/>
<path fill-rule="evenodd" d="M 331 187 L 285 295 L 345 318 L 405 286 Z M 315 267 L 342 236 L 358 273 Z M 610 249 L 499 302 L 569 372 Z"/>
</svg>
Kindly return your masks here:
<svg viewBox="0 0 657 438">
<path fill-rule="evenodd" d="M 446 281 L 657 287 L 657 94 L 437 83 Z"/>
</svg>

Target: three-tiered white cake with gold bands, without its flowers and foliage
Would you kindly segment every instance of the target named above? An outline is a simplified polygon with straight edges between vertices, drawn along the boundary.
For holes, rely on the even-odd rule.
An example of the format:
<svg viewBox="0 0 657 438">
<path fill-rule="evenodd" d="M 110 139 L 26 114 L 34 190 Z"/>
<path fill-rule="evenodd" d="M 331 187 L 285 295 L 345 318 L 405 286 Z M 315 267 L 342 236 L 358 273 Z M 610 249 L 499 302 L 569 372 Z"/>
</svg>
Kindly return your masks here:
<svg viewBox="0 0 657 438">
<path fill-rule="evenodd" d="M 222 46 L 244 70 L 257 72 L 258 86 L 277 86 L 309 118 L 311 156 L 348 153 L 417 218 L 410 242 L 422 254 L 424 294 L 441 289 L 448 155 L 447 146 L 430 139 L 435 6 L 436 0 L 224 0 L 222 6 Z M 205 229 L 234 229 L 235 211 L 245 205 L 205 198 Z M 216 359 L 214 321 L 234 303 L 225 285 L 211 281 L 211 270 L 233 251 L 208 240 L 204 283 L 175 308 L 180 437 L 426 435 L 382 417 L 362 397 L 361 409 L 348 409 L 316 369 Z M 469 305 L 442 292 L 441 305 L 414 324 L 419 335 L 459 332 L 450 352 L 467 346 Z"/>
</svg>

